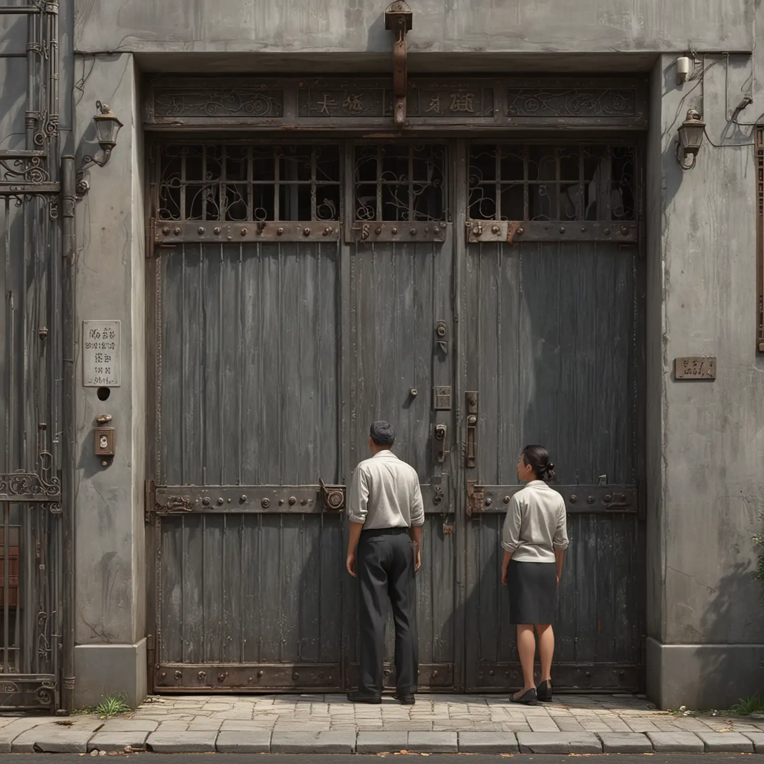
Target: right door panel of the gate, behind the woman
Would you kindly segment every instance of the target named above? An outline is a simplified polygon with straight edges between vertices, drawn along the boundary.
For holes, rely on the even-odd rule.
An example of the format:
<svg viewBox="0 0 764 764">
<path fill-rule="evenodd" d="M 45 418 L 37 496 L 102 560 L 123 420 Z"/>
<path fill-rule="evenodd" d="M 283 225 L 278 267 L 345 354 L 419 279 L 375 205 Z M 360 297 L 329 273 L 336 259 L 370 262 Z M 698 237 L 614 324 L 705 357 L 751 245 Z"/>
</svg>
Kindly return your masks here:
<svg viewBox="0 0 764 764">
<path fill-rule="evenodd" d="M 522 685 L 500 536 L 520 488 L 520 449 L 540 443 L 555 463 L 571 542 L 555 618 L 555 688 L 636 690 L 635 149 L 472 144 L 469 162 L 467 686 Z"/>
</svg>

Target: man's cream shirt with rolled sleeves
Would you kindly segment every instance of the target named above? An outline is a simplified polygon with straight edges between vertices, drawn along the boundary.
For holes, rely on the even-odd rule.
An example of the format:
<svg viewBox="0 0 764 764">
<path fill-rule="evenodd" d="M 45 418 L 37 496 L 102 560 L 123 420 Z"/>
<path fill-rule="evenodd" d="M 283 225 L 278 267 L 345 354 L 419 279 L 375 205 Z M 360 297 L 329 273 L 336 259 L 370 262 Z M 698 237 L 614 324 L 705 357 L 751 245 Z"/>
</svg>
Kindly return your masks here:
<svg viewBox="0 0 764 764">
<path fill-rule="evenodd" d="M 387 448 L 361 461 L 350 484 L 348 517 L 364 529 L 424 525 L 416 470 Z"/>
</svg>

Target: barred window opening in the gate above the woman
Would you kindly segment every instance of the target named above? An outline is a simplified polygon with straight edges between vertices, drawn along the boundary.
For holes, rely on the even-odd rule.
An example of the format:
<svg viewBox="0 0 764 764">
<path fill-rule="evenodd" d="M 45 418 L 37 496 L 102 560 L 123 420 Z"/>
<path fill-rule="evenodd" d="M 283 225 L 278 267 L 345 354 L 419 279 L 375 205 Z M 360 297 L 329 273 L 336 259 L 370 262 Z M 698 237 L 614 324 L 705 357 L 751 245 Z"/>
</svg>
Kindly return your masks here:
<svg viewBox="0 0 764 764">
<path fill-rule="evenodd" d="M 636 198 L 633 146 L 470 147 L 473 220 L 630 222 Z"/>
</svg>

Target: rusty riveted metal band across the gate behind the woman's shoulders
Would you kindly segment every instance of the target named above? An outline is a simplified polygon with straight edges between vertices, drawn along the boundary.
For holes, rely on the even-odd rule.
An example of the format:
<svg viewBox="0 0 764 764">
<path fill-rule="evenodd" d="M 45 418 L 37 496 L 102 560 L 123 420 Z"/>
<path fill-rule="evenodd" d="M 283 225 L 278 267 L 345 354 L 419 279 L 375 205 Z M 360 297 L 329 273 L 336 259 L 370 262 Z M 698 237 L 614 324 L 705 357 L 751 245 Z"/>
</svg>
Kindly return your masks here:
<svg viewBox="0 0 764 764">
<path fill-rule="evenodd" d="M 636 514 L 636 485 L 552 485 L 562 494 L 568 514 Z M 520 485 L 471 486 L 470 514 L 506 513 Z"/>
</svg>

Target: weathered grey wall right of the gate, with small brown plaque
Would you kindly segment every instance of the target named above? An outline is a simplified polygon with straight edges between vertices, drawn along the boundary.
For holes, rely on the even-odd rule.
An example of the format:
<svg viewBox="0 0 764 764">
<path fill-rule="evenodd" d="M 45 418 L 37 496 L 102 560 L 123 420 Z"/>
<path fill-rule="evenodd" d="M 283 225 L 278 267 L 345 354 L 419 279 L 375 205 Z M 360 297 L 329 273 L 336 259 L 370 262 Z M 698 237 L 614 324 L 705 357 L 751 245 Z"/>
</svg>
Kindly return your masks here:
<svg viewBox="0 0 764 764">
<path fill-rule="evenodd" d="M 751 541 L 764 510 L 756 167 L 752 128 L 725 117 L 751 87 L 752 63 L 717 56 L 704 65 L 702 83 L 677 87 L 669 56 L 652 76 L 648 655 L 649 691 L 664 707 L 727 707 L 762 685 Z M 764 111 L 754 95 L 740 121 Z M 688 108 L 703 113 L 720 147 L 705 141 L 697 166 L 682 172 L 674 141 Z M 674 359 L 685 355 L 716 356 L 717 380 L 675 380 Z"/>
</svg>

